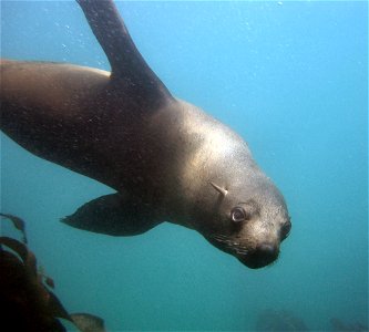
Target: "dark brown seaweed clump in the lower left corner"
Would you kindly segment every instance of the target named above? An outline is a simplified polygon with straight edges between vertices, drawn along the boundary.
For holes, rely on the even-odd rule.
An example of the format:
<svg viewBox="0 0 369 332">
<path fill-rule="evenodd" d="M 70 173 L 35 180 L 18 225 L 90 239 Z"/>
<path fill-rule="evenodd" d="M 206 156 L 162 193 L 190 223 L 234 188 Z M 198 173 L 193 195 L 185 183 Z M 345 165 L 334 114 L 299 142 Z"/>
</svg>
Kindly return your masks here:
<svg viewBox="0 0 369 332">
<path fill-rule="evenodd" d="M 37 258 L 28 248 L 25 222 L 13 215 L 0 214 L 21 232 L 21 241 L 0 237 L 0 305 L 1 325 L 12 331 L 66 331 L 60 319 L 74 324 L 82 332 L 103 332 L 101 318 L 70 314 L 52 292 L 54 281 L 38 270 Z M 9 329 L 9 328 L 8 328 Z"/>
</svg>

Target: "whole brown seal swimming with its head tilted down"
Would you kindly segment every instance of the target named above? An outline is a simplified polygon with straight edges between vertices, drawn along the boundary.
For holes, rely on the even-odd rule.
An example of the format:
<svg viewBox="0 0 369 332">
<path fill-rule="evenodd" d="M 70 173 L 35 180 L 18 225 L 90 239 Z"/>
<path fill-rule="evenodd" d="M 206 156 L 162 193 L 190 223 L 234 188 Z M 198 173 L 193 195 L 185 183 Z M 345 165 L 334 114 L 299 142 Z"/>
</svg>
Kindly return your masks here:
<svg viewBox="0 0 369 332">
<path fill-rule="evenodd" d="M 198 231 L 249 268 L 275 261 L 290 218 L 244 139 L 170 93 L 112 1 L 78 3 L 111 73 L 1 61 L 1 129 L 32 154 L 116 190 L 63 221 L 111 236 L 170 221 Z"/>
</svg>

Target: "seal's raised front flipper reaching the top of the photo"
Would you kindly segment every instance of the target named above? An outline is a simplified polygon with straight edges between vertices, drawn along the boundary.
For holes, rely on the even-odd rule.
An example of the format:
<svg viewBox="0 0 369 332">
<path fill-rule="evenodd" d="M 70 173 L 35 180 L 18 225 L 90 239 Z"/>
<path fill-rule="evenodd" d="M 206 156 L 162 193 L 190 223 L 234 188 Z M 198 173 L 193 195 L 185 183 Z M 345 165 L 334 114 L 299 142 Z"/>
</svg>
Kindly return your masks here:
<svg viewBox="0 0 369 332">
<path fill-rule="evenodd" d="M 112 82 L 136 95 L 137 104 L 163 103 L 172 95 L 136 49 L 112 0 L 76 0 L 112 66 Z M 152 107 L 151 107 L 152 110 Z"/>
</svg>

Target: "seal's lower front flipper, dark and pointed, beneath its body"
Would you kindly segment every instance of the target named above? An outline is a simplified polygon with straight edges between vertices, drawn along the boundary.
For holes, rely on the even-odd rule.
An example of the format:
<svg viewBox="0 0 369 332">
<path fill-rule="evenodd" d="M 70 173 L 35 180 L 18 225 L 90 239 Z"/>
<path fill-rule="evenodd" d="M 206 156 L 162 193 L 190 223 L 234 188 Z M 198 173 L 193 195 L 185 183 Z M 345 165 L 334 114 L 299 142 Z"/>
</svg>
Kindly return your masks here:
<svg viewBox="0 0 369 332">
<path fill-rule="evenodd" d="M 110 236 L 140 235 L 161 224 L 147 206 L 120 194 L 101 196 L 61 219 L 72 227 Z"/>
</svg>

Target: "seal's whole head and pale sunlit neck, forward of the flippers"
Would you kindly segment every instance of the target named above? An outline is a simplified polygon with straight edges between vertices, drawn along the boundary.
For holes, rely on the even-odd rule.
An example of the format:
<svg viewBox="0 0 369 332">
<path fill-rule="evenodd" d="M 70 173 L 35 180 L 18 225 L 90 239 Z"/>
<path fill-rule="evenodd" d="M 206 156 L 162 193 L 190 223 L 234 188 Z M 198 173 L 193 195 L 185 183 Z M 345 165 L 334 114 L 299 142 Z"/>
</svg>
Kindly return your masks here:
<svg viewBox="0 0 369 332">
<path fill-rule="evenodd" d="M 240 136 L 191 107 L 182 103 L 182 110 L 192 110 L 196 116 L 183 116 L 186 135 L 181 146 L 192 144 L 182 147 L 186 153 L 178 158 L 180 189 L 175 183 L 170 195 L 175 197 L 171 208 L 173 208 L 176 214 L 168 219 L 183 215 L 176 224 L 197 230 L 247 267 L 268 266 L 278 258 L 280 242 L 290 231 L 285 199 Z"/>
</svg>

